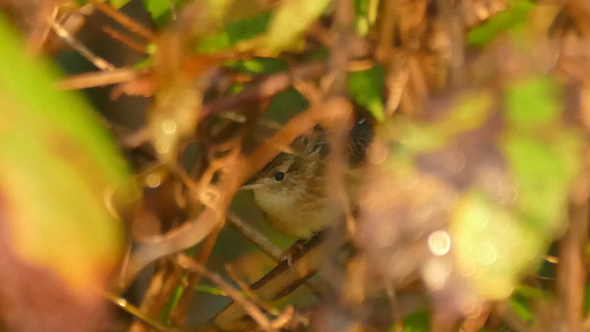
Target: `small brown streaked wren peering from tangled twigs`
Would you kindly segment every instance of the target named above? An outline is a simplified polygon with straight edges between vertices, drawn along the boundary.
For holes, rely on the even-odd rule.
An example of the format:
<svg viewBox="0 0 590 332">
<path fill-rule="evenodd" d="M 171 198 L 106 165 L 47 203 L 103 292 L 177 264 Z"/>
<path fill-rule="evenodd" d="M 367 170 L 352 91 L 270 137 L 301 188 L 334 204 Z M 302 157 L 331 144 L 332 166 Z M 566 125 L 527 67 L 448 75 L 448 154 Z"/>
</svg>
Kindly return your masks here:
<svg viewBox="0 0 590 332">
<path fill-rule="evenodd" d="M 365 119 L 357 121 L 348 135 L 345 183 L 352 197 L 372 135 L 373 126 Z M 290 150 L 277 155 L 244 188 L 253 190 L 254 200 L 274 229 L 307 239 L 326 227 L 332 216 L 326 180 L 326 132 L 316 126 L 311 133 L 299 136 Z"/>
</svg>

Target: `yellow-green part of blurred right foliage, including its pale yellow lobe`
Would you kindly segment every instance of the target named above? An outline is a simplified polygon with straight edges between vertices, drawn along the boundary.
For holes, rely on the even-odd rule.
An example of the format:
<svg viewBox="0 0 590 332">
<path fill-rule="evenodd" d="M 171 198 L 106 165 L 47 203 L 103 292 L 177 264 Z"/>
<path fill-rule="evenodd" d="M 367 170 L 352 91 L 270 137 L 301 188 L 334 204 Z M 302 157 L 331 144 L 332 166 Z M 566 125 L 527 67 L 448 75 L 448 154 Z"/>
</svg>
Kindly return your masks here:
<svg viewBox="0 0 590 332">
<path fill-rule="evenodd" d="M 470 271 L 468 278 L 486 298 L 508 296 L 565 227 L 582 145 L 560 121 L 558 92 L 549 77 L 523 80 L 507 90 L 499 148 L 512 187 L 505 200 L 473 188 L 455 214 L 458 265 L 465 274 Z"/>
</svg>

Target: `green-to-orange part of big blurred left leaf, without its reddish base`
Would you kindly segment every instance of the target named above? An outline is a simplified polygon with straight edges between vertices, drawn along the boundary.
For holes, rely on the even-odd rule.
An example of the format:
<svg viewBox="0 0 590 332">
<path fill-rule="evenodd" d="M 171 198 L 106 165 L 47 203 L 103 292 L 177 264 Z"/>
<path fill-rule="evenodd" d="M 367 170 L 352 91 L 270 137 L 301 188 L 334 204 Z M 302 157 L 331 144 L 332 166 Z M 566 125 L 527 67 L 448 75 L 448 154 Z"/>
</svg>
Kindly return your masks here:
<svg viewBox="0 0 590 332">
<path fill-rule="evenodd" d="M 123 245 L 112 207 L 136 193 L 130 170 L 78 93 L 24 52 L 0 17 L 0 193 L 9 244 L 74 289 L 104 284 Z"/>
</svg>

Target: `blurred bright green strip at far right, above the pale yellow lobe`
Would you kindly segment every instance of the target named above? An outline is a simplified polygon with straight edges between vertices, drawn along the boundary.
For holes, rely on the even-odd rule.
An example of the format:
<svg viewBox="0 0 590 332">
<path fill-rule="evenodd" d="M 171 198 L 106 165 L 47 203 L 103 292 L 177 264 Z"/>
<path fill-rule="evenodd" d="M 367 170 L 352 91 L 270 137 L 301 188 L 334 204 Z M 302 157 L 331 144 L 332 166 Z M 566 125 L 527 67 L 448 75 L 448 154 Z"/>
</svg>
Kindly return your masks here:
<svg viewBox="0 0 590 332">
<path fill-rule="evenodd" d="M 510 119 L 501 148 L 509 161 L 517 203 L 529 226 L 553 237 L 563 226 L 569 189 L 581 172 L 581 138 L 560 120 L 556 84 L 533 77 L 507 92 Z"/>
</svg>

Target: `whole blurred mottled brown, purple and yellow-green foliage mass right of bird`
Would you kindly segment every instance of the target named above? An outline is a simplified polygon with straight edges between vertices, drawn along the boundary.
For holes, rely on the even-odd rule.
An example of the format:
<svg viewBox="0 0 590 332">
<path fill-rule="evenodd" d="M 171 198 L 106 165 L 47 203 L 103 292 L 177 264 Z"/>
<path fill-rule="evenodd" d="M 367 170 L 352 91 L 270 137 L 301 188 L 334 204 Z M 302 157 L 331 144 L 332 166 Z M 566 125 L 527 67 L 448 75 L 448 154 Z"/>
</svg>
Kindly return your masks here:
<svg viewBox="0 0 590 332">
<path fill-rule="evenodd" d="M 549 76 L 440 98 L 430 122 L 378 130 L 357 241 L 395 285 L 422 278 L 468 314 L 509 297 L 562 234 L 583 144 Z"/>
</svg>

